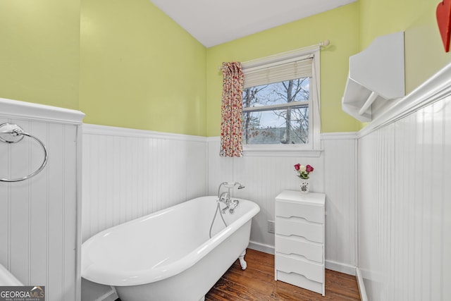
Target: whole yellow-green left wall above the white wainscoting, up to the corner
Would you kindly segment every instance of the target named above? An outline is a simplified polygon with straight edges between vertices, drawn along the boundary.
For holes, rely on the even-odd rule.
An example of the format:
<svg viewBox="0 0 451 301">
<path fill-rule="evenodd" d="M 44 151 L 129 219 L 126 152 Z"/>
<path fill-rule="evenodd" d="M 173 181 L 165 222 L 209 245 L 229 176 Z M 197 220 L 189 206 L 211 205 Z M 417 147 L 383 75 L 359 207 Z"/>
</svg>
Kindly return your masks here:
<svg viewBox="0 0 451 301">
<path fill-rule="evenodd" d="M 149 0 L 0 1 L 0 97 L 206 135 L 206 48 Z"/>
</svg>

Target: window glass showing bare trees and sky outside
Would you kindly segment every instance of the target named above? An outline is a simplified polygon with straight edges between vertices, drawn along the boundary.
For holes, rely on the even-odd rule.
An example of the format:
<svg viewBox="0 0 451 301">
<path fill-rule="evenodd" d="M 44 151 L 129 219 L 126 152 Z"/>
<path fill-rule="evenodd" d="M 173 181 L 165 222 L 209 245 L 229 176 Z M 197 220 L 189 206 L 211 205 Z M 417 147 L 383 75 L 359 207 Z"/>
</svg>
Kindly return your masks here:
<svg viewBox="0 0 451 301">
<path fill-rule="evenodd" d="M 243 90 L 245 145 L 309 143 L 311 78 L 296 78 Z"/>
</svg>

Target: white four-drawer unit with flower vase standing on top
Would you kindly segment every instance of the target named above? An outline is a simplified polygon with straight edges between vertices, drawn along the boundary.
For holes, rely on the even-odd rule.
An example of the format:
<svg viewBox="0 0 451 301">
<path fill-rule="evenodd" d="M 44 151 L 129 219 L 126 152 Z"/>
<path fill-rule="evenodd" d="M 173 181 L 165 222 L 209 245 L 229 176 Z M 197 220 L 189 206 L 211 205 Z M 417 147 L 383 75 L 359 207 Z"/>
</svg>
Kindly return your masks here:
<svg viewBox="0 0 451 301">
<path fill-rule="evenodd" d="M 326 195 L 284 190 L 276 197 L 276 280 L 325 295 Z"/>
</svg>

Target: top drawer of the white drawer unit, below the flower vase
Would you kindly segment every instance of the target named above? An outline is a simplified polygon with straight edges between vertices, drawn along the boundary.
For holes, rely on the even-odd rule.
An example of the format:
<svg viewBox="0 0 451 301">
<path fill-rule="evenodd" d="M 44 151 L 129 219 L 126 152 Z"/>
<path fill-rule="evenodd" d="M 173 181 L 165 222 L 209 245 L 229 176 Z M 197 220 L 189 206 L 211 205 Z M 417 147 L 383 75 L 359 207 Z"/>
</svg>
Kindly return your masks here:
<svg viewBox="0 0 451 301">
<path fill-rule="evenodd" d="M 278 199 L 276 202 L 276 216 L 290 218 L 300 217 L 314 223 L 324 222 L 323 206 L 302 204 L 295 202 L 284 202 Z"/>
</svg>

